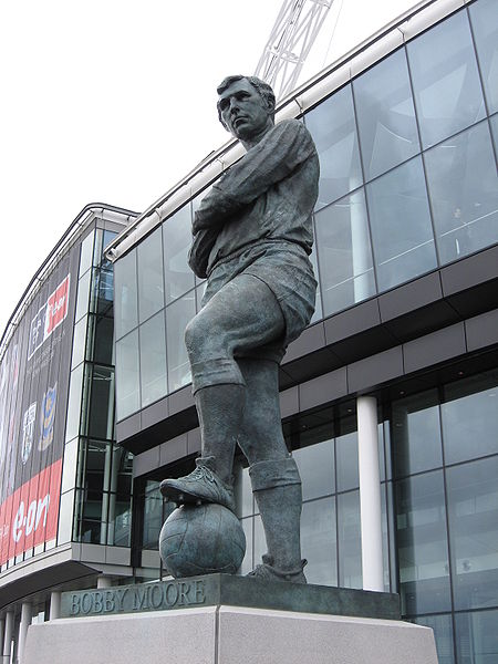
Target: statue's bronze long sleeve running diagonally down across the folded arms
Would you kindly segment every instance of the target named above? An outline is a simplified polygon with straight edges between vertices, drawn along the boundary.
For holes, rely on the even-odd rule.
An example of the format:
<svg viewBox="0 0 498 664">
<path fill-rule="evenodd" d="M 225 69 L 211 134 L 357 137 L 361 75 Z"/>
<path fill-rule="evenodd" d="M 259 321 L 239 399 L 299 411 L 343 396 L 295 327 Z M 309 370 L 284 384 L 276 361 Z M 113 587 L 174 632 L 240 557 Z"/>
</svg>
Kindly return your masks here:
<svg viewBox="0 0 498 664">
<path fill-rule="evenodd" d="M 193 232 L 222 226 L 315 152 L 313 139 L 301 122 L 277 124 L 212 186 L 195 215 Z"/>
</svg>

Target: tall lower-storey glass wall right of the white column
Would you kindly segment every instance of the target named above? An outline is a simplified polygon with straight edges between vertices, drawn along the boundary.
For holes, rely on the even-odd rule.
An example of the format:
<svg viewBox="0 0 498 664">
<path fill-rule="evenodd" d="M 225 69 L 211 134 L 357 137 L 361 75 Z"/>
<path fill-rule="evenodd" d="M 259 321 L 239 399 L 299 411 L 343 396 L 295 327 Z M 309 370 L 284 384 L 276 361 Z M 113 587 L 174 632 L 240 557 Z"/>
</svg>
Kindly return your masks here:
<svg viewBox="0 0 498 664">
<path fill-rule="evenodd" d="M 392 404 L 403 612 L 448 664 L 498 657 L 497 413 L 496 370 Z"/>
</svg>

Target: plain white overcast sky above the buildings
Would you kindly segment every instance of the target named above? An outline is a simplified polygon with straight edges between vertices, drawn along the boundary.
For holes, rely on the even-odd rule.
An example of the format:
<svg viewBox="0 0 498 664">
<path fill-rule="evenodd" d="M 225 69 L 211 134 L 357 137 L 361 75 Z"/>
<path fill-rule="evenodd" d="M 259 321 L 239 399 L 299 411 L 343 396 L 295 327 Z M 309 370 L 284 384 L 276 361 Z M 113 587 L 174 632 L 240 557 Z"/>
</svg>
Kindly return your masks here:
<svg viewBox="0 0 498 664">
<path fill-rule="evenodd" d="M 216 85 L 253 73 L 282 3 L 1 3 L 0 334 L 86 204 L 143 211 L 228 139 Z M 300 82 L 414 4 L 335 0 Z"/>
</svg>

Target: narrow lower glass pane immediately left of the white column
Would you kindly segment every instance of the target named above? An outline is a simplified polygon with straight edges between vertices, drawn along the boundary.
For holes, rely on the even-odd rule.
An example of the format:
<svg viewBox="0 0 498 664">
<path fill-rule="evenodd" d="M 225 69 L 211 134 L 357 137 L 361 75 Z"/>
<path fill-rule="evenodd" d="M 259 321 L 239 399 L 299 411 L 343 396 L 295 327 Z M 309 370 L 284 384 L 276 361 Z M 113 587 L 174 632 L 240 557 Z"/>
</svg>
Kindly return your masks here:
<svg viewBox="0 0 498 664">
<path fill-rule="evenodd" d="M 339 585 L 363 588 L 360 491 L 338 496 Z"/>
</svg>

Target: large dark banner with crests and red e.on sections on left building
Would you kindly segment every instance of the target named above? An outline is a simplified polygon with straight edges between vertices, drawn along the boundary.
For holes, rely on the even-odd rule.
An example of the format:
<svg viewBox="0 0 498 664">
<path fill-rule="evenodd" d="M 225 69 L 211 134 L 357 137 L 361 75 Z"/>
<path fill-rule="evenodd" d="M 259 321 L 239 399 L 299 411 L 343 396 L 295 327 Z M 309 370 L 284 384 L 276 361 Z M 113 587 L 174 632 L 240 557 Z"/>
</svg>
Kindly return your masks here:
<svg viewBox="0 0 498 664">
<path fill-rule="evenodd" d="M 56 536 L 79 259 L 76 245 L 0 365 L 0 564 Z"/>
</svg>

